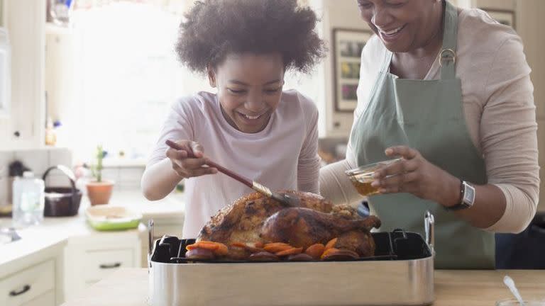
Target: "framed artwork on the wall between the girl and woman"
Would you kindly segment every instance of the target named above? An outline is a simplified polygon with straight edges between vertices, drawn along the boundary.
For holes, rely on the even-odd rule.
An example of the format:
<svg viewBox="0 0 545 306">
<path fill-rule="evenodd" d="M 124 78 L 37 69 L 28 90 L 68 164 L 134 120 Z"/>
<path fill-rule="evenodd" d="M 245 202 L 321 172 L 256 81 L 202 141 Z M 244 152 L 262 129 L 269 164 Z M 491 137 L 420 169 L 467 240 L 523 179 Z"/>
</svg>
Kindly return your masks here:
<svg viewBox="0 0 545 306">
<path fill-rule="evenodd" d="M 356 109 L 361 50 L 371 35 L 370 30 L 333 29 L 335 111 L 351 113 Z"/>
</svg>

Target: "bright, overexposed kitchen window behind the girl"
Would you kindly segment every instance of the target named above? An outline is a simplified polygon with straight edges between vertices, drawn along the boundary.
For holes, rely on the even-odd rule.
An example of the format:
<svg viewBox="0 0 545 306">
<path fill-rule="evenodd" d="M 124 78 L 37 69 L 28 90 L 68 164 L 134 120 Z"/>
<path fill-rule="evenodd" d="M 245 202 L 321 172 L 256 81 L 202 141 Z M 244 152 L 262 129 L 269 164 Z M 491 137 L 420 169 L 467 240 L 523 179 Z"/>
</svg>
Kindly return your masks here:
<svg viewBox="0 0 545 306">
<path fill-rule="evenodd" d="M 177 61 L 181 18 L 153 1 L 73 11 L 75 102 L 60 113 L 75 162 L 89 161 L 101 144 L 114 157 L 109 163 L 144 164 L 170 104 L 197 91 L 215 92 Z M 301 89 L 302 78 L 287 74 L 285 89 Z M 116 160 L 120 152 L 124 157 Z"/>
</svg>

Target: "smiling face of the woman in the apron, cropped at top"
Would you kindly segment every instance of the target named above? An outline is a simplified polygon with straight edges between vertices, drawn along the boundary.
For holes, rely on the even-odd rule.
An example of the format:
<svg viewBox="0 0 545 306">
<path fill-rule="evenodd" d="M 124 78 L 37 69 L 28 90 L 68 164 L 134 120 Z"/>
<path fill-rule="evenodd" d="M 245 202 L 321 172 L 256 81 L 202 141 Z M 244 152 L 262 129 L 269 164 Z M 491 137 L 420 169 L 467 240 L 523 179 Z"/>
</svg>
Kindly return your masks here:
<svg viewBox="0 0 545 306">
<path fill-rule="evenodd" d="M 441 20 L 441 0 L 357 0 L 361 16 L 391 52 L 429 43 Z"/>
</svg>

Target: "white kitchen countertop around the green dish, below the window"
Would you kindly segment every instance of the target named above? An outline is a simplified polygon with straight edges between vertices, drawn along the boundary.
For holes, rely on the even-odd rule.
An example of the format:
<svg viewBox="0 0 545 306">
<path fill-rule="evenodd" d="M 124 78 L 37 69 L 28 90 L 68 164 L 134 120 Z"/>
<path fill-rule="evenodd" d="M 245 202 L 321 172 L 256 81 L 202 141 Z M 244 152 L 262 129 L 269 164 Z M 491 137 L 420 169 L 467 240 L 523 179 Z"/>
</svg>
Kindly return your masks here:
<svg viewBox="0 0 545 306">
<path fill-rule="evenodd" d="M 146 200 L 141 191 L 114 191 L 111 205 L 121 205 L 133 211 L 141 212 L 143 222 L 149 219 L 183 220 L 184 205 L 182 194 L 172 193 L 163 200 Z M 115 236 L 123 232 L 98 232 L 87 224 L 85 209 L 89 207 L 87 196 L 82 197 L 79 213 L 74 217 L 45 217 L 40 225 L 17 229 L 21 240 L 9 244 L 0 244 L 0 271 L 6 272 L 16 261 L 24 261 L 28 256 L 50 248 L 62 247 L 68 238 L 82 237 L 89 234 Z M 0 218 L 0 227 L 11 226 L 11 218 Z M 144 231 L 141 225 L 133 231 Z"/>
</svg>

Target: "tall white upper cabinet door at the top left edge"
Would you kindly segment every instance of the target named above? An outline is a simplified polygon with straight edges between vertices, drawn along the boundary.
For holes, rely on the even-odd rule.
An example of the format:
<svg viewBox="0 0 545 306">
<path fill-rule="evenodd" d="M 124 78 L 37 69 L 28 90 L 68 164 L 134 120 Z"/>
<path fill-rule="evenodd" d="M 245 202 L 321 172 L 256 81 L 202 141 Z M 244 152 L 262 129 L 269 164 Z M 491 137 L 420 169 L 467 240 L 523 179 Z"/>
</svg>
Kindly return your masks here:
<svg viewBox="0 0 545 306">
<path fill-rule="evenodd" d="M 45 127 L 46 1 L 4 0 L 11 42 L 11 110 L 0 118 L 0 149 L 40 147 Z"/>
</svg>

